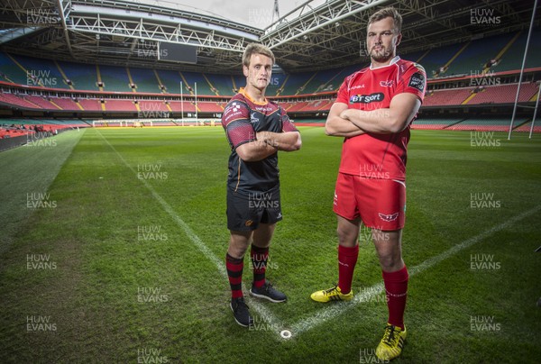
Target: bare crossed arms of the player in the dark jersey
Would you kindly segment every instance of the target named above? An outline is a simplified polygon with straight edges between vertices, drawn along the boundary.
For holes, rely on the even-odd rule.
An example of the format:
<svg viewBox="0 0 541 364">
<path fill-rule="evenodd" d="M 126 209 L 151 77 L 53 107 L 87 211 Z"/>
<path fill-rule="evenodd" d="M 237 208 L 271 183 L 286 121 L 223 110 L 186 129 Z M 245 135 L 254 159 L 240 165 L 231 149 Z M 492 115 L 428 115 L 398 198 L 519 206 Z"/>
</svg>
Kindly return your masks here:
<svg viewBox="0 0 541 364">
<path fill-rule="evenodd" d="M 247 162 L 265 159 L 278 150 L 295 151 L 302 145 L 300 132 L 258 132 L 257 141 L 239 145 L 236 153 Z"/>
</svg>

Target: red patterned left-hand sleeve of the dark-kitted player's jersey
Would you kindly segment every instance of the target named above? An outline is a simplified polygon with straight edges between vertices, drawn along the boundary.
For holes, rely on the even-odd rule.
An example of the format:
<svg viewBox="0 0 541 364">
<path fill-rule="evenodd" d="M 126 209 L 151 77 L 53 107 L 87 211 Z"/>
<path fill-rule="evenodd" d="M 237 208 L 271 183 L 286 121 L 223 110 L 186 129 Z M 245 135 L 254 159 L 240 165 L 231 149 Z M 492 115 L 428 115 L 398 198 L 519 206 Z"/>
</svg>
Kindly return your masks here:
<svg viewBox="0 0 541 364">
<path fill-rule="evenodd" d="M 233 100 L 225 106 L 222 126 L 232 149 L 250 141 L 256 141 L 255 131 L 250 122 L 250 110 L 241 101 Z"/>
</svg>

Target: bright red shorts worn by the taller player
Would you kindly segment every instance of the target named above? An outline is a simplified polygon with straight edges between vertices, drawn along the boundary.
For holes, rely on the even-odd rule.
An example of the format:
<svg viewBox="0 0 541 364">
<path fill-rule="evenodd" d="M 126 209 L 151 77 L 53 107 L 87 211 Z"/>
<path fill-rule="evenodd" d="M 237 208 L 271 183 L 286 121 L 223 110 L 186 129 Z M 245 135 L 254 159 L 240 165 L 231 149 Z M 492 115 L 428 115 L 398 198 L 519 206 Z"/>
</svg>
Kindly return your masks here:
<svg viewBox="0 0 541 364">
<path fill-rule="evenodd" d="M 338 173 L 333 210 L 367 227 L 399 230 L 406 220 L 406 183 L 397 179 L 363 178 Z"/>
</svg>

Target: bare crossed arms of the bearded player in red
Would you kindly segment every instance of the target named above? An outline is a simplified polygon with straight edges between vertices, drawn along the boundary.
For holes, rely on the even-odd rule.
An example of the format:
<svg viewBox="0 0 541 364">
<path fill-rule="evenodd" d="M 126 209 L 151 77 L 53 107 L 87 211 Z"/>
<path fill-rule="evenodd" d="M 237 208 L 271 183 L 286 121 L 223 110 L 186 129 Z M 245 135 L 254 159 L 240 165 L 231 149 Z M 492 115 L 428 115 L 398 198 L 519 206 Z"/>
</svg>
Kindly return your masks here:
<svg viewBox="0 0 541 364">
<path fill-rule="evenodd" d="M 335 103 L 327 116 L 325 132 L 327 135 L 346 138 L 365 132 L 401 132 L 408 127 L 420 106 L 417 96 L 410 93 L 394 96 L 388 108 L 371 111 L 348 109 L 346 104 Z"/>
</svg>

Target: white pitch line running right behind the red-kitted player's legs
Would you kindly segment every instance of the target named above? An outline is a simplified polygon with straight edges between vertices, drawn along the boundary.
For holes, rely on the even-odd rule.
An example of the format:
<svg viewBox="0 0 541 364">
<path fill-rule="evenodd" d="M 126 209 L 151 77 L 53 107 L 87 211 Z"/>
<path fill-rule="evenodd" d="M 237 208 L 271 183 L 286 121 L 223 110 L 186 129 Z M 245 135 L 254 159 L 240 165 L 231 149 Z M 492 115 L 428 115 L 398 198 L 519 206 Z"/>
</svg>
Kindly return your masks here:
<svg viewBox="0 0 541 364">
<path fill-rule="evenodd" d="M 541 210 L 541 205 L 537 205 L 536 207 L 532 208 L 531 210 L 528 210 L 525 213 L 518 214 L 517 216 L 510 218 L 505 223 L 500 223 L 500 225 L 493 226 L 491 227 L 491 229 L 485 232 L 481 232 L 479 235 L 475 235 L 474 237 L 466 241 L 463 241 L 457 245 L 454 245 L 453 248 L 450 248 L 449 250 L 445 250 L 443 253 L 437 255 L 436 257 L 426 259 L 421 264 L 411 269 L 408 269 L 409 277 L 414 276 L 418 273 L 421 273 L 428 268 L 434 267 L 437 263 L 450 258 L 451 256 L 453 256 L 460 250 L 464 250 L 472 246 L 476 242 L 486 239 L 492 234 L 494 234 L 495 232 L 500 232 L 500 230 L 503 230 L 514 223 L 518 223 L 520 220 L 532 214 L 536 214 L 536 212 L 538 212 L 539 210 Z M 306 319 L 298 323 L 294 323 L 287 329 L 289 330 L 289 332 L 291 332 L 290 338 L 295 337 L 301 334 L 302 332 L 307 332 L 308 330 L 312 329 L 316 325 L 325 323 L 326 321 L 332 318 L 335 318 L 336 316 L 340 314 L 344 314 L 344 312 L 352 309 L 355 305 L 358 305 L 362 302 L 369 301 L 373 296 L 377 296 L 381 294 L 383 292 L 383 289 L 384 289 L 383 283 L 378 283 L 372 287 L 367 287 L 365 288 L 365 290 L 362 292 L 361 295 L 354 296 L 353 301 L 351 302 L 340 302 L 335 305 L 327 306 L 326 309 L 319 311 L 317 314 L 311 317 L 307 317 Z M 281 329 L 281 330 L 284 330 L 284 329 Z M 280 335 L 281 330 L 277 332 L 279 335 Z"/>
</svg>

